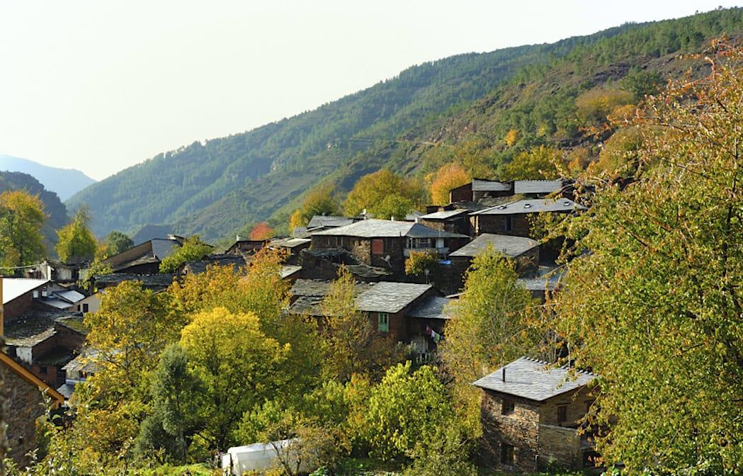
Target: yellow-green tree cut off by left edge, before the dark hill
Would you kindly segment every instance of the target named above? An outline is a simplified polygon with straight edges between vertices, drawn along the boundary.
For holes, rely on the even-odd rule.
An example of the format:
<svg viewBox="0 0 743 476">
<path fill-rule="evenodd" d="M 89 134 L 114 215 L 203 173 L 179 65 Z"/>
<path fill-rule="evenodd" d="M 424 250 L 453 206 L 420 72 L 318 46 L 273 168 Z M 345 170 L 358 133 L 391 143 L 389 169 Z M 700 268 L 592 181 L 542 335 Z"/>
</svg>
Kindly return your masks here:
<svg viewBox="0 0 743 476">
<path fill-rule="evenodd" d="M 22 190 L 0 194 L 0 264 L 19 267 L 44 255 L 44 203 Z"/>
</svg>

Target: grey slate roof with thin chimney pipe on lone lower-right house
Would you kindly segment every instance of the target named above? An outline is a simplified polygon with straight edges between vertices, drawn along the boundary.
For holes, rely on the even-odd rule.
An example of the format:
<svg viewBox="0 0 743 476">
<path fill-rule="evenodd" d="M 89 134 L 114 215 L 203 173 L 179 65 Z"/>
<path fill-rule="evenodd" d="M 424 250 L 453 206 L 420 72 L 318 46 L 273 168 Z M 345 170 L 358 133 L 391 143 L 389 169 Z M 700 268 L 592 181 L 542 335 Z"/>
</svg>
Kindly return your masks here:
<svg viewBox="0 0 743 476">
<path fill-rule="evenodd" d="M 502 378 L 504 368 L 506 370 L 505 382 Z M 543 402 L 583 387 L 596 377 L 596 374 L 590 372 L 565 367 L 550 368 L 547 362 L 521 357 L 473 382 L 472 385 Z"/>
</svg>

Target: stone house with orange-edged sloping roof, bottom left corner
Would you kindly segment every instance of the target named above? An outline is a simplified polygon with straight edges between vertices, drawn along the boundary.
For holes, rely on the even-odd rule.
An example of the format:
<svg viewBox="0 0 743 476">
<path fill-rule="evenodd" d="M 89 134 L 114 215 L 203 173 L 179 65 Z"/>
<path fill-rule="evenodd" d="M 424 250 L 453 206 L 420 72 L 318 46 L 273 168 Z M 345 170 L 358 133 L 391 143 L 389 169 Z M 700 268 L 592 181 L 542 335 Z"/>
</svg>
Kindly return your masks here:
<svg viewBox="0 0 743 476">
<path fill-rule="evenodd" d="M 58 408 L 65 398 L 39 377 L 0 351 L 0 372 L 3 386 L 8 392 L 7 400 L 7 443 L 10 446 L 8 457 L 23 467 L 29 463 L 26 456 L 36 449 L 36 420 L 45 412 L 42 405 L 44 394 L 52 401 L 52 408 Z"/>
</svg>

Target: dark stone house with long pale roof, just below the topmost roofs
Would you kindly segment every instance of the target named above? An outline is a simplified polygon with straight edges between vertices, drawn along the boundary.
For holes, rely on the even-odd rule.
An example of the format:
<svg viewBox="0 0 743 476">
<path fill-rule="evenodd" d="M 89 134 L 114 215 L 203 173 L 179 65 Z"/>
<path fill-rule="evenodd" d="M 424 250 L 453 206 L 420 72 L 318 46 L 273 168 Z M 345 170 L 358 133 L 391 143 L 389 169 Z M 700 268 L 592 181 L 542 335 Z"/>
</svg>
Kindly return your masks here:
<svg viewBox="0 0 743 476">
<path fill-rule="evenodd" d="M 493 233 L 529 237 L 533 217 L 539 213 L 574 213 L 585 209 L 568 198 L 517 200 L 470 213 L 475 235 Z"/>
</svg>

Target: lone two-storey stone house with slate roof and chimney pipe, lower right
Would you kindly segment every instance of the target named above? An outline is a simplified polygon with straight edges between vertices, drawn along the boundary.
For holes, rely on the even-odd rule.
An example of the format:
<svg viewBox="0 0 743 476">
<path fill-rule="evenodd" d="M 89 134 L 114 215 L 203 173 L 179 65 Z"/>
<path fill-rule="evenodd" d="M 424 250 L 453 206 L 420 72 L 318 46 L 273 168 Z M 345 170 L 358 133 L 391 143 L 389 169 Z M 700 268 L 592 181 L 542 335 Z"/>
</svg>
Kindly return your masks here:
<svg viewBox="0 0 743 476">
<path fill-rule="evenodd" d="M 482 390 L 480 457 L 503 472 L 536 472 L 550 463 L 593 466 L 591 431 L 581 419 L 594 402 L 597 375 L 521 357 L 473 382 Z"/>
</svg>

